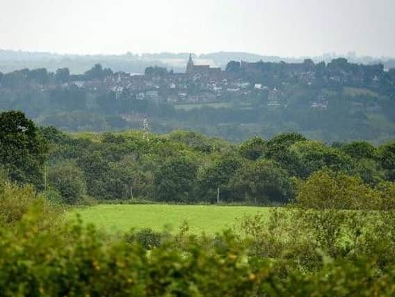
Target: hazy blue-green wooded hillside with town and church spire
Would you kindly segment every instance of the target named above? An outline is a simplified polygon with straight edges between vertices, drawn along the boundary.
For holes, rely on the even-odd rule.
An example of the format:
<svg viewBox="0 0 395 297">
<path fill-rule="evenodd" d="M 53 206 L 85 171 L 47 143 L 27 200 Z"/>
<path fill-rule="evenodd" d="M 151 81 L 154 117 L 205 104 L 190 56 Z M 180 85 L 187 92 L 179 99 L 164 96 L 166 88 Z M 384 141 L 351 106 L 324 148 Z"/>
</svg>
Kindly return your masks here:
<svg viewBox="0 0 395 297">
<path fill-rule="evenodd" d="M 0 110 L 20 109 L 42 125 L 71 131 L 136 128 L 148 116 L 160 132 L 197 129 L 243 140 L 289 129 L 341 141 L 353 131 L 356 139 L 380 143 L 395 131 L 394 96 L 394 68 L 346 58 L 229 61 L 221 69 L 191 54 L 182 72 L 152 65 L 131 74 L 97 63 L 83 74 L 67 67 L 0 73 Z"/>
</svg>

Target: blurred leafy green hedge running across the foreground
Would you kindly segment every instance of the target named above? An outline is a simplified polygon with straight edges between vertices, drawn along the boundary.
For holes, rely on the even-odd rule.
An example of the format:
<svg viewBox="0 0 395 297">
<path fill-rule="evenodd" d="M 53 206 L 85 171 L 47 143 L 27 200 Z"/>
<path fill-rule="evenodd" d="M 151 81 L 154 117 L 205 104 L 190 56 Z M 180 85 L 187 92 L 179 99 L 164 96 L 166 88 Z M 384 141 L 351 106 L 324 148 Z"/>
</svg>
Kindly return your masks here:
<svg viewBox="0 0 395 297">
<path fill-rule="evenodd" d="M 147 232 L 147 234 L 152 234 Z M 303 270 L 290 253 L 246 257 L 228 232 L 185 236 L 180 249 L 166 237 L 147 253 L 136 242 L 111 239 L 93 227 L 58 232 L 0 228 L 2 296 L 393 296 L 394 263 L 377 269 L 376 257 L 353 261 L 321 256 Z M 217 244 L 220 242 L 220 244 Z M 291 241 L 289 241 L 291 242 Z M 290 247 L 292 250 L 292 246 Z M 293 249 L 295 251 L 297 249 Z M 307 255 L 312 258 L 312 255 Z M 287 258 L 288 257 L 288 258 Z"/>
</svg>

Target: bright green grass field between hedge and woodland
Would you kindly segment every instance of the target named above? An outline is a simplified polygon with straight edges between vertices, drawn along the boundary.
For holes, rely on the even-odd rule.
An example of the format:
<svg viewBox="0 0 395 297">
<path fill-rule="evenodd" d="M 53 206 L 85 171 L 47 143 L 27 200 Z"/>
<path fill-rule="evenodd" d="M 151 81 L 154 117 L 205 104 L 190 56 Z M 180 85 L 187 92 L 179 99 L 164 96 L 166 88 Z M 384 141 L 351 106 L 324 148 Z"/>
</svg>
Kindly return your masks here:
<svg viewBox="0 0 395 297">
<path fill-rule="evenodd" d="M 184 221 L 190 232 L 214 234 L 232 228 L 244 214 L 268 214 L 268 207 L 168 205 L 168 204 L 101 204 L 73 209 L 68 216 L 80 214 L 84 223 L 94 223 L 107 232 L 124 232 L 131 228 L 150 227 L 161 231 L 165 226 L 177 232 Z"/>
</svg>

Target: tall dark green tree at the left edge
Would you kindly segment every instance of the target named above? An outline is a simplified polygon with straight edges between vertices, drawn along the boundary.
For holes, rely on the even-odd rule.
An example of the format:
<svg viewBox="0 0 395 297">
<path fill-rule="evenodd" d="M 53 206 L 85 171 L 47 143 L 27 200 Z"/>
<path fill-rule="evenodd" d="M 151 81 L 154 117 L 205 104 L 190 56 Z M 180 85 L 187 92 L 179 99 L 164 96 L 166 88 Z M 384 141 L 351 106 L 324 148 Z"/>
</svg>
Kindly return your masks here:
<svg viewBox="0 0 395 297">
<path fill-rule="evenodd" d="M 24 113 L 0 113 L 0 164 L 10 179 L 41 188 L 47 152 L 47 142 Z"/>
</svg>

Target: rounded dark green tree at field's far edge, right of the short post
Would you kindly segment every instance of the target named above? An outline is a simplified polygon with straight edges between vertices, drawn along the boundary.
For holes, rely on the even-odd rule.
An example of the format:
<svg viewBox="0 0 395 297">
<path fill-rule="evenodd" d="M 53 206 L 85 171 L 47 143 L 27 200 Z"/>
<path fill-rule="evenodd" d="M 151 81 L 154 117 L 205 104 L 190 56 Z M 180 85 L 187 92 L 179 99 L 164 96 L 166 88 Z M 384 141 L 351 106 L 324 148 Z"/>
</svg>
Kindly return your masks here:
<svg viewBox="0 0 395 297">
<path fill-rule="evenodd" d="M 246 162 L 230 181 L 239 200 L 257 203 L 286 203 L 293 195 L 287 171 L 273 161 Z"/>
</svg>

